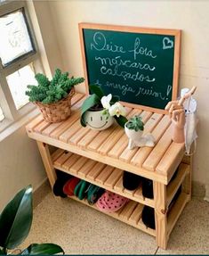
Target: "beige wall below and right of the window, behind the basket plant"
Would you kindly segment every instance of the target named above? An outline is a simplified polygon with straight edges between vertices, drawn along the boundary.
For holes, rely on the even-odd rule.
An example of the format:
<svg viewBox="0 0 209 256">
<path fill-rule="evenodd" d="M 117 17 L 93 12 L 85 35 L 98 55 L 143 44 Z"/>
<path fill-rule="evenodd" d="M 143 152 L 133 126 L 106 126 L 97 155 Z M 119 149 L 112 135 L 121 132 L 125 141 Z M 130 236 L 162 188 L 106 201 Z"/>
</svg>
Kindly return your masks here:
<svg viewBox="0 0 209 256">
<path fill-rule="evenodd" d="M 33 27 L 44 70 L 48 76 L 56 68 L 63 69 L 59 45 L 55 36 L 47 2 L 28 2 Z M 37 14 L 37 15 L 36 15 Z M 40 186 L 44 178 L 44 165 L 36 142 L 28 138 L 25 126 L 0 142 L 0 211 L 24 186 Z"/>
</svg>

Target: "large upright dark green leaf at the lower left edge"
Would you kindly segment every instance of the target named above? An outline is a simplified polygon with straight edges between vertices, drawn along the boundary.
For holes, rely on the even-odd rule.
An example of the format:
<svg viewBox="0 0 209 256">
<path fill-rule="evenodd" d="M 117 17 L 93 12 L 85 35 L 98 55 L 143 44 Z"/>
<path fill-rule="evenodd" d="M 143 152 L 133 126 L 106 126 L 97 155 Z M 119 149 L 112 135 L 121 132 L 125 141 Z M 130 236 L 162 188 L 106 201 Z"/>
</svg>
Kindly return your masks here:
<svg viewBox="0 0 209 256">
<path fill-rule="evenodd" d="M 14 196 L 0 215 L 0 246 L 14 249 L 28 236 L 33 218 L 32 186 Z"/>
</svg>

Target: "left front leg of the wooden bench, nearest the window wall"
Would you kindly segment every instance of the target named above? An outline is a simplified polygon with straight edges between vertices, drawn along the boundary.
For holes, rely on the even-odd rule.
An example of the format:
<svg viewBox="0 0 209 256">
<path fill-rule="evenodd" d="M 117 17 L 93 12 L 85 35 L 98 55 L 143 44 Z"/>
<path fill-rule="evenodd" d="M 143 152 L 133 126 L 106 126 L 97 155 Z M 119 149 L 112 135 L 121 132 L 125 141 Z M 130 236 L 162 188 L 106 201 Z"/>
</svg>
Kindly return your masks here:
<svg viewBox="0 0 209 256">
<path fill-rule="evenodd" d="M 51 187 L 53 187 L 55 180 L 57 179 L 56 172 L 53 168 L 52 158 L 49 151 L 49 146 L 43 142 L 36 141 L 42 160 L 44 162 L 44 168 L 49 179 Z"/>
</svg>

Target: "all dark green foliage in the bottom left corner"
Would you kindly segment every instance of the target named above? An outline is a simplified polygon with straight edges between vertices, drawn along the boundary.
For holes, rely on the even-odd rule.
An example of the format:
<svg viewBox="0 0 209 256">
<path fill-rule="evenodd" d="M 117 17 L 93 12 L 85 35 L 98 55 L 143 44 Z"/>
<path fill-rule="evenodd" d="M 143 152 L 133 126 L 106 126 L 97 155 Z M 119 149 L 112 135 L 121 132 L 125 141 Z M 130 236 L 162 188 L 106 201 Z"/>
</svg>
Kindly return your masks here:
<svg viewBox="0 0 209 256">
<path fill-rule="evenodd" d="M 0 255 L 8 255 L 28 236 L 33 219 L 32 186 L 27 186 L 14 196 L 0 214 Z M 30 244 L 20 254 L 63 253 L 57 244 Z"/>
</svg>

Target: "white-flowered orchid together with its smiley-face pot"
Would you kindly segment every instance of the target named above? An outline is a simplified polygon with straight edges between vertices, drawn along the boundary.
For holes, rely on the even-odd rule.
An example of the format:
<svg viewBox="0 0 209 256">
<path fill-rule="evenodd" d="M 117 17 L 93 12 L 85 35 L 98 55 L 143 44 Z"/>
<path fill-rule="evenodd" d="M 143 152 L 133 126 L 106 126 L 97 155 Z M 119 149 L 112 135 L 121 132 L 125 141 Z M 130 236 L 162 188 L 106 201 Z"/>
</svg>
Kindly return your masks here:
<svg viewBox="0 0 209 256">
<path fill-rule="evenodd" d="M 125 108 L 118 103 L 119 97 L 111 94 L 104 95 L 98 85 L 90 85 L 89 95 L 81 107 L 81 125 L 96 130 L 109 128 L 114 120 L 121 127 L 125 127 Z"/>
</svg>

